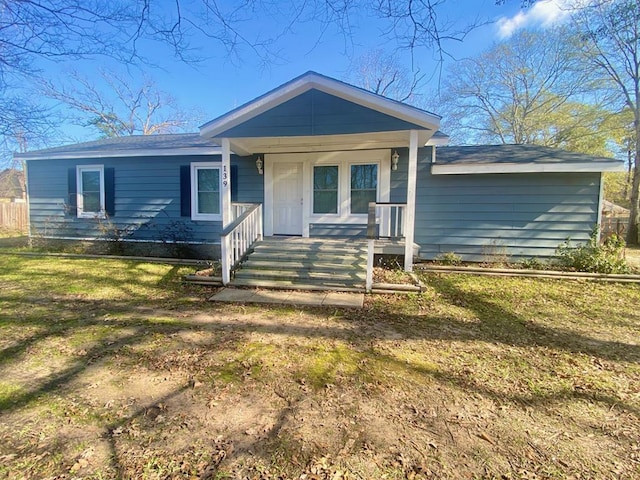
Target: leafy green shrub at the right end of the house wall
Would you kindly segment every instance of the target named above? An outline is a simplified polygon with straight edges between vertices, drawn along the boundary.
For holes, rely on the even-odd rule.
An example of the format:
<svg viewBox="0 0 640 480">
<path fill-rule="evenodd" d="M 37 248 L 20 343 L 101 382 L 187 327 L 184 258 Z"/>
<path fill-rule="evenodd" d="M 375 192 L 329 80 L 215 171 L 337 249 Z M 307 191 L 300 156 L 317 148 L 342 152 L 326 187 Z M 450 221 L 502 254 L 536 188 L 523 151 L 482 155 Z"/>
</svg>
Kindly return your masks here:
<svg viewBox="0 0 640 480">
<path fill-rule="evenodd" d="M 624 259 L 624 240 L 611 235 L 598 243 L 597 229 L 591 234 L 589 241 L 577 247 L 567 239 L 556 249 L 558 264 L 564 270 L 593 273 L 629 273 L 629 266 Z"/>
</svg>

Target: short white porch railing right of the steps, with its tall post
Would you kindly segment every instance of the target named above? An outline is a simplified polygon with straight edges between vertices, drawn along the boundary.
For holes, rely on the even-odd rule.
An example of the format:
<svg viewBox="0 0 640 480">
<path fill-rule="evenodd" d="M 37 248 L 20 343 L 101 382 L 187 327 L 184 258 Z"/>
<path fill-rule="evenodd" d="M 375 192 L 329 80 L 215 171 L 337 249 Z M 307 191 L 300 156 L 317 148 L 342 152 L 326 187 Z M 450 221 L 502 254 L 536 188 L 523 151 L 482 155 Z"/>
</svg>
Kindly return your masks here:
<svg viewBox="0 0 640 480">
<path fill-rule="evenodd" d="M 373 257 L 378 238 L 404 238 L 405 203 L 369 203 L 367 219 L 367 277 L 365 288 L 373 288 Z"/>
</svg>

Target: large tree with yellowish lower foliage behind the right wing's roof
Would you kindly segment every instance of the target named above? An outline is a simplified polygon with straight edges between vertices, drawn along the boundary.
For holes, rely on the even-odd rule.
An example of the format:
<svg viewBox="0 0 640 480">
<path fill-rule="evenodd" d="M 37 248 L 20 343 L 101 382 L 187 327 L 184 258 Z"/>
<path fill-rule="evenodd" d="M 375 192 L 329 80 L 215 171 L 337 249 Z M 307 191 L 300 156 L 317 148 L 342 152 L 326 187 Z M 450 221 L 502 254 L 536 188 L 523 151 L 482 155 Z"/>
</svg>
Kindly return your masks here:
<svg viewBox="0 0 640 480">
<path fill-rule="evenodd" d="M 445 128 L 463 143 L 534 143 L 602 153 L 595 149 L 606 137 L 593 133 L 610 114 L 581 101 L 598 84 L 574 44 L 564 29 L 525 30 L 454 64 L 439 108 Z"/>
</svg>

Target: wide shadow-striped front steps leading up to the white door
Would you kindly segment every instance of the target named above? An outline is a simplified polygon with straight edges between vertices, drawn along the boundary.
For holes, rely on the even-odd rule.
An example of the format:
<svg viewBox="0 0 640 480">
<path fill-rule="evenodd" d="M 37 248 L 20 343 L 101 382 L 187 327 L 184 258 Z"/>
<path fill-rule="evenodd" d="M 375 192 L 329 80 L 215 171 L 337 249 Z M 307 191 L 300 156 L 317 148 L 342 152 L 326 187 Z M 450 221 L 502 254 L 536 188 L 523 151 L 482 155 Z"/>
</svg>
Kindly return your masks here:
<svg viewBox="0 0 640 480">
<path fill-rule="evenodd" d="M 365 241 L 270 237 L 254 246 L 231 285 L 363 292 L 366 270 Z"/>
</svg>

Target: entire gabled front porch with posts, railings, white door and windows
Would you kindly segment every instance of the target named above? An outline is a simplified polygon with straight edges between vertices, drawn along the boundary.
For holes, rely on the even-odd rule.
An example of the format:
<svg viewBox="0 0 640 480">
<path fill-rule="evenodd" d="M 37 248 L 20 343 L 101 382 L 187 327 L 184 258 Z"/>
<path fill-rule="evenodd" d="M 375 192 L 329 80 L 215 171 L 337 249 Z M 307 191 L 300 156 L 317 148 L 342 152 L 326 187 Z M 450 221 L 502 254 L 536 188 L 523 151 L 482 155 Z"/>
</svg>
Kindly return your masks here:
<svg viewBox="0 0 640 480">
<path fill-rule="evenodd" d="M 365 262 L 364 277 L 354 260 L 349 273 L 340 273 L 341 280 L 348 280 L 344 288 L 362 288 L 364 282 L 371 290 L 376 252 L 401 255 L 404 270 L 411 272 L 418 149 L 442 141 L 434 136 L 439 125 L 440 117 L 430 112 L 314 72 L 203 125 L 200 135 L 221 146 L 221 163 L 212 168 L 219 169 L 221 178 L 224 284 L 242 278 L 235 272 L 252 251 L 269 249 L 272 255 L 286 256 L 281 242 L 264 243 L 265 237 L 277 235 L 314 239 L 305 244 L 307 249 L 317 245 L 337 256 L 358 256 Z M 244 198 L 261 202 L 244 212 L 232 205 L 232 153 L 245 178 L 252 171 L 251 184 L 244 185 L 253 193 Z M 247 264 L 256 262 L 256 253 L 252 255 Z M 309 269 L 318 267 L 319 259 L 305 262 L 288 276 L 311 278 Z M 314 275 L 338 275 L 331 268 Z"/>
</svg>

